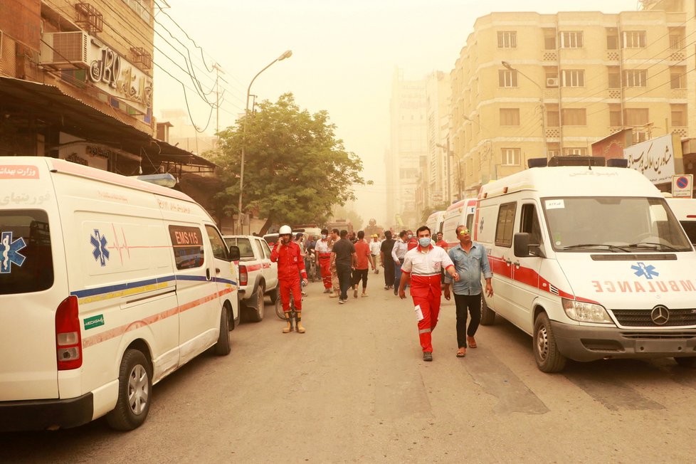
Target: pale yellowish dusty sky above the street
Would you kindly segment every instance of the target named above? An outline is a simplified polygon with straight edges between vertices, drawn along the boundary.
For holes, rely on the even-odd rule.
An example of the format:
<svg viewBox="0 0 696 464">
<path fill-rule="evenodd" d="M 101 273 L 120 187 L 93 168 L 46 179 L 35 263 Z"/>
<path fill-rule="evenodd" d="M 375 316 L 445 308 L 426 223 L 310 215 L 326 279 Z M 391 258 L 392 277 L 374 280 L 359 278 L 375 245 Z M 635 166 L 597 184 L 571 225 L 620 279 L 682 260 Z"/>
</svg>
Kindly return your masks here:
<svg viewBox="0 0 696 464">
<path fill-rule="evenodd" d="M 162 0 L 155 0 L 162 4 Z M 228 83 L 220 111 L 220 127 L 233 124 L 243 112 L 249 82 L 287 49 L 292 57 L 275 63 L 253 83 L 251 93 L 275 101 L 292 92 L 310 112 L 327 110 L 337 136 L 364 164 L 364 176 L 374 186 L 360 186 L 357 212 L 367 221 L 391 223 L 384 217 L 384 151 L 389 147 L 389 97 L 394 67 L 404 78 L 420 79 L 433 70 L 453 68 L 475 19 L 492 11 L 635 11 L 636 0 L 511 1 L 511 0 L 167 0 L 164 11 L 204 49 L 208 65 L 217 62 Z M 201 51 L 167 16 L 156 20 L 186 43 L 194 58 L 196 77 L 210 90 Z M 157 26 L 160 31 L 161 26 Z M 179 46 L 167 32 L 168 41 Z M 183 58 L 155 36 L 157 64 L 186 86 L 194 123 L 204 127 L 210 107 L 194 92 L 194 83 L 163 55 Z M 179 46 L 180 50 L 183 50 Z M 185 52 L 184 52 L 185 53 Z M 184 77 L 185 76 L 185 77 Z M 212 76 L 212 78 L 211 78 Z M 214 94 L 209 95 L 215 100 Z M 155 115 L 184 108 L 181 84 L 155 68 Z M 214 132 L 215 115 L 209 130 Z"/>
</svg>

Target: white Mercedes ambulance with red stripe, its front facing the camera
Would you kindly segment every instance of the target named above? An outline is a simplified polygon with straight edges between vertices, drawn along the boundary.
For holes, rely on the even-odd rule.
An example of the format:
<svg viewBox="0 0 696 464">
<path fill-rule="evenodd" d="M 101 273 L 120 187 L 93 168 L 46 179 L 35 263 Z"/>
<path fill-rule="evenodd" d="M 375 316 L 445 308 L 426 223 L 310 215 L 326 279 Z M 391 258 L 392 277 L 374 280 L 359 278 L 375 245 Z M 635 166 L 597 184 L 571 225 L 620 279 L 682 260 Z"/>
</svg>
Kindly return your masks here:
<svg viewBox="0 0 696 464">
<path fill-rule="evenodd" d="M 658 189 L 633 169 L 535 167 L 479 194 L 495 314 L 533 337 L 539 369 L 566 359 L 696 362 L 696 253 Z"/>
</svg>

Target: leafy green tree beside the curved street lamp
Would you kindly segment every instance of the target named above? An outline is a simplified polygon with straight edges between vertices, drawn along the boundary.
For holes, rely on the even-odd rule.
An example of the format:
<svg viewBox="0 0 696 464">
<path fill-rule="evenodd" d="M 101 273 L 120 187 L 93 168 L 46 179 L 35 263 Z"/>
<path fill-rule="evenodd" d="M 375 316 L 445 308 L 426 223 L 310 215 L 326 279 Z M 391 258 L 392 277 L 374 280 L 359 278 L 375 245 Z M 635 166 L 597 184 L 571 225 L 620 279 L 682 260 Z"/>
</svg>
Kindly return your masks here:
<svg viewBox="0 0 696 464">
<path fill-rule="evenodd" d="M 223 130 L 215 162 L 225 188 L 216 195 L 224 213 L 238 211 L 241 147 L 245 144 L 243 212 L 265 224 L 323 223 L 332 206 L 354 200 L 352 184 L 365 184 L 362 161 L 344 149 L 326 111 L 300 110 L 292 93 L 264 100 Z M 243 125 L 246 120 L 246 135 Z"/>
</svg>

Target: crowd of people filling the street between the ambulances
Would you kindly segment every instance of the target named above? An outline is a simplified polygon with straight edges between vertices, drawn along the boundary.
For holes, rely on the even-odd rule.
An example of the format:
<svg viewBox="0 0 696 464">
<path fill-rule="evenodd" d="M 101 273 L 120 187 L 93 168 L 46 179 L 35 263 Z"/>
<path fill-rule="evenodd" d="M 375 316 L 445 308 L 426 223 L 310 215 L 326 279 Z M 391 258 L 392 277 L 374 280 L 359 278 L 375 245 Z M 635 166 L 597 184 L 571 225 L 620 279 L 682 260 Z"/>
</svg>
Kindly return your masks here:
<svg viewBox="0 0 696 464">
<path fill-rule="evenodd" d="M 485 291 L 488 297 L 492 297 L 492 272 L 485 249 L 471 241 L 466 226 L 456 228 L 459 243 L 451 248 L 441 232 L 431 237 L 427 226 L 419 227 L 415 234 L 411 230 L 401 231 L 398 238 L 392 237 L 392 231 L 385 231 L 384 239 L 373 234 L 367 240 L 364 231 L 354 234 L 337 228 L 329 232 L 325 228 L 320 237 L 305 238 L 302 233 L 297 233 L 295 241 L 291 241 L 290 227 L 281 229 L 271 260 L 278 261 L 280 298 L 288 320 L 288 327 L 283 332 L 292 329 L 290 293 L 295 297 L 296 307 L 299 303 L 299 315 L 302 310 L 297 295 L 301 292 L 300 282 L 306 283 L 305 268 L 310 268 L 313 262 L 321 274 L 324 292 L 329 298 L 338 298 L 340 305 L 348 302 L 349 290 L 354 298 L 358 295 L 367 297 L 369 271 L 379 274 L 380 267 L 384 269 L 384 290 L 394 290 L 394 295 L 403 299 L 406 298 L 406 288 L 410 287 L 424 361 L 433 360 L 432 332 L 438 323 L 443 289 L 445 300 L 454 295 L 457 357 L 465 357 L 467 348 L 478 346 L 474 335 L 481 320 L 481 293 Z M 482 275 L 485 290 L 481 285 Z M 299 318 L 297 327 L 301 327 Z"/>
</svg>

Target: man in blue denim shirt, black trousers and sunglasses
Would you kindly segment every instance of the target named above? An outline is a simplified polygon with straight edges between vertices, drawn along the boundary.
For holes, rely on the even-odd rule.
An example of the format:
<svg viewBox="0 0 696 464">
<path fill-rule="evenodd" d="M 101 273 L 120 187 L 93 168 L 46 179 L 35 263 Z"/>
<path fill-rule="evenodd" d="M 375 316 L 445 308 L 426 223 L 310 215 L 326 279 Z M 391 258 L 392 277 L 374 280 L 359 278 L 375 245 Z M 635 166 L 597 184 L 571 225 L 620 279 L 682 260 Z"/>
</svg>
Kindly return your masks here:
<svg viewBox="0 0 696 464">
<path fill-rule="evenodd" d="M 486 295 L 493 296 L 490 263 L 485 248 L 480 243 L 471 241 L 471 232 L 466 226 L 457 226 L 459 244 L 449 251 L 449 257 L 460 275 L 459 281 L 453 283 L 454 302 L 457 307 L 457 357 L 466 356 L 467 345 L 477 347 L 474 335 L 481 322 L 481 274 L 486 280 Z M 449 279 L 445 279 L 445 300 L 450 299 Z M 471 315 L 469 327 L 466 327 L 467 310 Z"/>
</svg>

